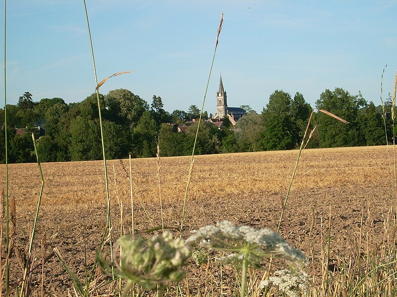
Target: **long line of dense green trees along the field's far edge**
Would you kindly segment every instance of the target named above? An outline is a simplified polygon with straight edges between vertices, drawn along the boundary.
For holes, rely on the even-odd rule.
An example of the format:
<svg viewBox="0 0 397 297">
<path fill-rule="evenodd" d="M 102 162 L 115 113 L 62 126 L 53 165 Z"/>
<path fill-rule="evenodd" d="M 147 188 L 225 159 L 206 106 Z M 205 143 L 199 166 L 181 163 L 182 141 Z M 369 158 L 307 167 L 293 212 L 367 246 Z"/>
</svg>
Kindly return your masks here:
<svg viewBox="0 0 397 297">
<path fill-rule="evenodd" d="M 106 158 L 153 157 L 157 144 L 162 156 L 192 153 L 198 123 L 189 125 L 186 133 L 177 133 L 169 123 L 185 123 L 198 119 L 200 110 L 191 105 L 188 111 L 164 110 L 161 97 L 153 96 L 149 105 L 144 99 L 126 89 L 99 95 L 103 121 Z M 248 112 L 233 127 L 225 120 L 221 129 L 203 121 L 199 127 L 197 154 L 246 152 L 298 148 L 312 112 L 302 94 L 276 90 L 258 114 L 249 105 Z M 316 110 L 322 108 L 345 119 L 344 124 L 322 113 L 314 112 L 311 129 L 315 132 L 310 148 L 374 146 L 386 144 L 386 135 L 392 138 L 390 112 L 367 102 L 361 94 L 336 88 L 325 90 L 316 101 Z M 391 110 L 391 98 L 385 107 Z M 61 98 L 44 98 L 39 102 L 25 92 L 16 105 L 7 105 L 8 162 L 35 161 L 31 133 L 36 134 L 37 149 L 42 162 L 98 160 L 102 158 L 97 95 L 81 102 L 66 104 Z M 203 119 L 212 117 L 203 112 Z M 385 122 L 386 132 L 385 132 Z M 0 162 L 5 162 L 4 109 L 0 109 L 2 133 Z M 35 127 L 44 128 L 39 131 Z M 24 128 L 17 133 L 15 128 Z"/>
</svg>

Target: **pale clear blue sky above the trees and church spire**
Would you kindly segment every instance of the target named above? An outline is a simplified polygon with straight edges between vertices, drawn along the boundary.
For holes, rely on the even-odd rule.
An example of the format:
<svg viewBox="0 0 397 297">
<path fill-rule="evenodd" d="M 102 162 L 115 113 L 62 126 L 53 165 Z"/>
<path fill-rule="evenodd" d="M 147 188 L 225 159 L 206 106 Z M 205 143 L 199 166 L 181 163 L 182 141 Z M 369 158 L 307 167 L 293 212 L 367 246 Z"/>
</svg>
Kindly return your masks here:
<svg viewBox="0 0 397 297">
<path fill-rule="evenodd" d="M 261 112 L 275 90 L 314 106 L 344 88 L 380 104 L 397 69 L 397 1 L 86 0 L 102 94 L 125 88 L 164 108 L 201 107 L 220 14 L 224 22 L 204 110 L 215 112 L 219 74 L 229 106 Z M 4 0 L 0 7 L 4 40 Z M 7 1 L 7 103 L 77 102 L 95 89 L 82 0 Z M 3 48 L 3 46 L 2 46 Z M 2 52 L 3 50 L 1 50 Z M 4 56 L 0 99 L 4 100 Z M 1 103 L 2 105 L 3 103 Z"/>
</svg>

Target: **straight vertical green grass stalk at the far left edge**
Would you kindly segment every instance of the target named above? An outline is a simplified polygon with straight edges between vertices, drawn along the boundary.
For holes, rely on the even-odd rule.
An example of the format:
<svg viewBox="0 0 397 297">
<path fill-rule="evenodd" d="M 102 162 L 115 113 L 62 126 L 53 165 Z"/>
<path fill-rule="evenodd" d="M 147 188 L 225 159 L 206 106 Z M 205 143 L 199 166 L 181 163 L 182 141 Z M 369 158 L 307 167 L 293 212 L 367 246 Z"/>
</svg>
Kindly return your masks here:
<svg viewBox="0 0 397 297">
<path fill-rule="evenodd" d="M 7 136 L 7 79 L 6 79 L 6 26 L 7 26 L 7 0 L 4 0 L 4 133 L 5 133 L 5 251 L 10 249 L 9 239 L 9 201 L 8 201 L 8 136 Z M 2 277 L 1 277 L 2 280 Z M 8 296 L 9 290 L 9 257 L 5 259 L 5 295 Z"/>
</svg>

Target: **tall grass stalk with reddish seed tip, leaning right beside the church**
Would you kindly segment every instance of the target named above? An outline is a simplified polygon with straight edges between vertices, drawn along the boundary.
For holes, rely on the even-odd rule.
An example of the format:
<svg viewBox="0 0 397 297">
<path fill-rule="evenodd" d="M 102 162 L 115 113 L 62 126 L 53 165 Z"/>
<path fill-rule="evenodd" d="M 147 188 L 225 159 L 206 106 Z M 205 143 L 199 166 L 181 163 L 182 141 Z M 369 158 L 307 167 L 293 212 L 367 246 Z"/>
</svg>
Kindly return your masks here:
<svg viewBox="0 0 397 297">
<path fill-rule="evenodd" d="M 190 159 L 190 167 L 189 167 L 189 173 L 188 173 L 188 179 L 186 183 L 186 190 L 185 190 L 185 198 L 183 200 L 183 208 L 182 208 L 182 219 L 181 219 L 181 231 L 183 231 L 183 223 L 184 223 L 184 218 L 185 218 L 185 209 L 186 209 L 186 200 L 188 198 L 188 191 L 189 191 L 189 184 L 190 184 L 190 178 L 192 175 L 193 171 L 193 163 L 194 163 L 194 156 L 195 156 L 195 150 L 196 150 L 196 143 L 197 143 L 197 138 L 199 136 L 199 128 L 201 124 L 201 118 L 202 118 L 202 113 L 204 109 L 204 104 L 205 104 L 205 98 L 207 97 L 207 92 L 208 92 L 208 86 L 209 86 L 209 80 L 211 78 L 211 73 L 212 73 L 212 67 L 214 65 L 214 60 L 215 60 L 215 55 L 216 55 L 216 49 L 218 47 L 218 40 L 219 40 L 219 34 L 220 31 L 222 30 L 222 23 L 223 23 L 223 13 L 220 15 L 220 21 L 219 21 L 219 28 L 218 28 L 218 34 L 216 35 L 216 42 L 215 42 L 215 49 L 214 49 L 214 54 L 212 56 L 212 62 L 211 62 L 211 67 L 209 68 L 209 75 L 208 75 L 208 80 L 207 80 L 207 86 L 205 87 L 205 93 L 204 93 L 204 99 L 202 100 L 202 105 L 201 105 L 201 111 L 200 111 L 200 116 L 199 116 L 199 123 L 197 125 L 197 131 L 196 131 L 196 137 L 195 137 L 195 142 L 193 144 L 193 150 L 192 150 L 192 157 Z"/>
</svg>

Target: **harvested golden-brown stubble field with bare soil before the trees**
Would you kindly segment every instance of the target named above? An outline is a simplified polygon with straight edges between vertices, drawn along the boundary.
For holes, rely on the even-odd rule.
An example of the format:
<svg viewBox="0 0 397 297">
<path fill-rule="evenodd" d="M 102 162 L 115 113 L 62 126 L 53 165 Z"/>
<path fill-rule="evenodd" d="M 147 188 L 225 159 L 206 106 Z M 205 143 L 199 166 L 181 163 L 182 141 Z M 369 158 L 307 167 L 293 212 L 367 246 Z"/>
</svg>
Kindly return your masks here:
<svg viewBox="0 0 397 297">
<path fill-rule="evenodd" d="M 183 236 L 189 236 L 192 229 L 224 219 L 276 230 L 296 154 L 293 150 L 196 156 Z M 128 160 L 123 163 L 129 171 Z M 189 163 L 190 157 L 161 158 L 161 196 L 167 226 L 180 226 Z M 1 170 L 5 172 L 4 165 Z M 9 195 L 16 203 L 14 242 L 22 249 L 37 206 L 39 173 L 37 164 L 10 164 L 8 170 Z M 103 162 L 44 163 L 42 170 L 45 186 L 36 254 L 41 253 L 45 232 L 46 253 L 58 247 L 70 267 L 82 275 L 84 240 L 88 262 L 92 263 L 106 224 Z M 118 160 L 108 161 L 108 175 L 114 235 L 118 237 L 119 201 L 124 205 L 125 232 L 131 232 L 130 183 Z M 365 243 L 363 252 L 381 252 L 383 245 L 391 240 L 396 204 L 390 176 L 386 147 L 304 150 L 281 234 L 310 258 L 308 272 L 315 284 L 321 277 L 330 207 L 334 267 L 339 265 L 337 257 L 357 253 L 360 235 Z M 141 231 L 161 225 L 156 158 L 132 159 L 132 181 L 134 229 Z M 40 262 L 40 256 L 36 257 L 37 263 Z M 22 269 L 15 256 L 11 263 L 11 284 L 15 287 Z M 215 282 L 214 275 L 219 272 L 215 266 L 211 266 L 212 276 L 202 267 L 193 264 L 189 267 L 191 293 L 197 290 L 198 283 L 204 288 L 205 278 L 210 290 L 208 284 Z M 72 282 L 59 260 L 51 257 L 44 271 L 44 296 L 67 296 Z M 230 275 L 224 271 L 223 292 L 233 289 L 231 271 Z M 32 296 L 40 296 L 40 282 L 41 266 L 33 274 Z M 186 282 L 181 286 L 186 290 Z M 213 294 L 218 296 L 219 292 Z"/>
</svg>

